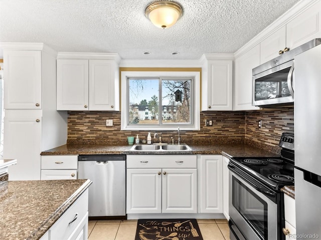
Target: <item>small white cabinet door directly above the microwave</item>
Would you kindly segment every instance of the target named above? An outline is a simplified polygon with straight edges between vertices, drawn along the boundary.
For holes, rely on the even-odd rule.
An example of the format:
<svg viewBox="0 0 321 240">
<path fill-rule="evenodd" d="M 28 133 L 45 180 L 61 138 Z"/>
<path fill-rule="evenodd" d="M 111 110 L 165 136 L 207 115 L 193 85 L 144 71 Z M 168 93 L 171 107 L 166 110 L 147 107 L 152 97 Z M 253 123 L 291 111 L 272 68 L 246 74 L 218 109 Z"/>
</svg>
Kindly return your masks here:
<svg viewBox="0 0 321 240">
<path fill-rule="evenodd" d="M 286 47 L 286 27 L 283 26 L 260 42 L 260 64 L 279 55 L 279 50 Z"/>
</svg>

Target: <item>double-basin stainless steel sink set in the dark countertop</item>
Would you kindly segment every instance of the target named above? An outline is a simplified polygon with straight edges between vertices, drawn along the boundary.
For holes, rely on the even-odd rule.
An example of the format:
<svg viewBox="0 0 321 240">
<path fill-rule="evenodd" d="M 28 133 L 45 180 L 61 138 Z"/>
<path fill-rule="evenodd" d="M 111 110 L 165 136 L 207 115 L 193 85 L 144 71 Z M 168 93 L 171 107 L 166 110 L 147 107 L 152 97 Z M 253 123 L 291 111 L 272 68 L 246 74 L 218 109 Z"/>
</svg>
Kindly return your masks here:
<svg viewBox="0 0 321 240">
<path fill-rule="evenodd" d="M 135 144 L 130 148 L 131 151 L 191 151 L 186 144 Z"/>
</svg>

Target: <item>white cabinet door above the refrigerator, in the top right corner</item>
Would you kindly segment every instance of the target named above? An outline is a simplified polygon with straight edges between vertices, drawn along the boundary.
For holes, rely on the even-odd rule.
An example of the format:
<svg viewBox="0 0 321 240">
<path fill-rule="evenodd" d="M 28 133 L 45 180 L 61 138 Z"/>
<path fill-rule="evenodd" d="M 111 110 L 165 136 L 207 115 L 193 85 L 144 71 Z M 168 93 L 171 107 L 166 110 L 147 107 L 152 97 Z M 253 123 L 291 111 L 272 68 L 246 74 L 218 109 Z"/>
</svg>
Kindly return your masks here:
<svg viewBox="0 0 321 240">
<path fill-rule="evenodd" d="M 286 24 L 286 46 L 291 50 L 318 37 L 321 37 L 321 1 L 315 1 Z"/>
</svg>

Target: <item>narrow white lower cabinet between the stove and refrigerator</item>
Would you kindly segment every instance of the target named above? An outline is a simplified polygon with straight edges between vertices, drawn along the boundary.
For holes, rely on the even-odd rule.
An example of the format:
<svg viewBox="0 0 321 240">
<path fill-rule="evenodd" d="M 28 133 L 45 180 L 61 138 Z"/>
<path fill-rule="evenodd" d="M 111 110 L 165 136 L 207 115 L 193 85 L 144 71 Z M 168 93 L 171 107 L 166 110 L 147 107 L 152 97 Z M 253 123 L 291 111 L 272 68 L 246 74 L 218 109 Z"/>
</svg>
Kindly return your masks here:
<svg viewBox="0 0 321 240">
<path fill-rule="evenodd" d="M 285 234 L 285 240 L 295 240 L 295 200 L 286 194 L 284 194 L 284 216 L 285 227 L 282 229 L 282 231 L 283 234 Z"/>
</svg>

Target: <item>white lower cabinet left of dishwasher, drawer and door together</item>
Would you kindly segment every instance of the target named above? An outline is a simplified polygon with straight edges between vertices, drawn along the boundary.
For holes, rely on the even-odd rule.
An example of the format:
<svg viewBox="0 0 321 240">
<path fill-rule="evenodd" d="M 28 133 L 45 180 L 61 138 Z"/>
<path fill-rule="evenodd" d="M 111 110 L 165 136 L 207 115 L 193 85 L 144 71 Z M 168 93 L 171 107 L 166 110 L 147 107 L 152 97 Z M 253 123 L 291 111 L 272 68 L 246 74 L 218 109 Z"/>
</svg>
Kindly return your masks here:
<svg viewBox="0 0 321 240">
<path fill-rule="evenodd" d="M 78 155 L 41 156 L 41 180 L 77 179 Z"/>
</svg>

